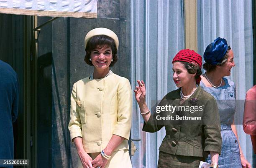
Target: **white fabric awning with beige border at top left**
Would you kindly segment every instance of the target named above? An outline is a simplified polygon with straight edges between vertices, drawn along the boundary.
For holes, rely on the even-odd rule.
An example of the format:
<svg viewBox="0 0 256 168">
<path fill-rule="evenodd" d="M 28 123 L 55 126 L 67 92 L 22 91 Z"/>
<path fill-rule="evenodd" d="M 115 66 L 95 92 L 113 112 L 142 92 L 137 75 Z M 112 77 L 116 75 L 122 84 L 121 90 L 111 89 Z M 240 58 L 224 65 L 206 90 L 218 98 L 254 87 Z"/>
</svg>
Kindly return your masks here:
<svg viewBox="0 0 256 168">
<path fill-rule="evenodd" d="M 0 0 L 0 13 L 97 18 L 97 0 Z"/>
</svg>

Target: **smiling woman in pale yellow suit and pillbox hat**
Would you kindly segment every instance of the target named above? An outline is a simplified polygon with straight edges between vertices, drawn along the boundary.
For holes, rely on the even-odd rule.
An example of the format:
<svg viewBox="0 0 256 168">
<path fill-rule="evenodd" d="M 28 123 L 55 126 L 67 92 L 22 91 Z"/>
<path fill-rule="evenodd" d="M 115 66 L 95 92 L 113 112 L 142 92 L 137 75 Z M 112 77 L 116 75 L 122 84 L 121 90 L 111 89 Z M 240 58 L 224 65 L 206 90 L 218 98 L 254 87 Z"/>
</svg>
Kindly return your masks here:
<svg viewBox="0 0 256 168">
<path fill-rule="evenodd" d="M 74 83 L 69 131 L 84 168 L 131 168 L 131 85 L 110 70 L 117 60 L 117 35 L 95 28 L 84 39 L 84 60 L 93 73 Z"/>
</svg>

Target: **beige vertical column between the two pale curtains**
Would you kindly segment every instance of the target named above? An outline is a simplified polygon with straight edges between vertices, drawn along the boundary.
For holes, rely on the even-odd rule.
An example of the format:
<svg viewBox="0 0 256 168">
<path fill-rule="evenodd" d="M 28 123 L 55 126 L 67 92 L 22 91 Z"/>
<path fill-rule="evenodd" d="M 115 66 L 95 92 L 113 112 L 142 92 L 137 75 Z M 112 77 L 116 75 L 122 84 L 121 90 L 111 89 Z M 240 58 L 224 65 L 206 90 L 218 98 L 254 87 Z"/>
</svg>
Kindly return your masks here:
<svg viewBox="0 0 256 168">
<path fill-rule="evenodd" d="M 184 0 L 185 48 L 197 52 L 197 0 Z"/>
</svg>

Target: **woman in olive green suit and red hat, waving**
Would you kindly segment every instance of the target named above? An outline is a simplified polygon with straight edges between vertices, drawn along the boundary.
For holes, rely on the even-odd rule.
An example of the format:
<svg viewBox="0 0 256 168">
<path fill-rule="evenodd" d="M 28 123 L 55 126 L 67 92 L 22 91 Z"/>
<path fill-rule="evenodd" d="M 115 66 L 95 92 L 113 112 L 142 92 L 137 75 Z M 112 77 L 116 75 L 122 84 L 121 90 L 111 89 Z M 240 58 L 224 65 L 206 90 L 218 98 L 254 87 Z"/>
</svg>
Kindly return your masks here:
<svg viewBox="0 0 256 168">
<path fill-rule="evenodd" d="M 221 151 L 220 118 L 215 99 L 200 88 L 202 58 L 193 50 L 181 50 L 174 57 L 173 80 L 179 89 L 164 96 L 158 106 L 172 105 L 189 107 L 190 111 L 174 110 L 166 115 L 166 109 L 151 115 L 146 105 L 146 88 L 138 80 L 134 90 L 137 103 L 144 119 L 143 130 L 154 133 L 165 127 L 166 136 L 159 148 L 158 168 L 198 168 L 200 161 L 211 155 L 211 167 L 218 167 Z M 200 106 L 202 111 L 194 112 L 192 108 Z M 156 108 L 160 109 L 160 108 Z M 169 116 L 173 119 L 161 120 Z M 159 116 L 159 114 L 161 116 Z M 178 117 L 178 119 L 176 118 Z M 197 120 L 187 118 L 201 117 Z M 159 119 L 160 118 L 160 119 Z M 182 118 L 182 120 L 180 120 Z"/>
</svg>

